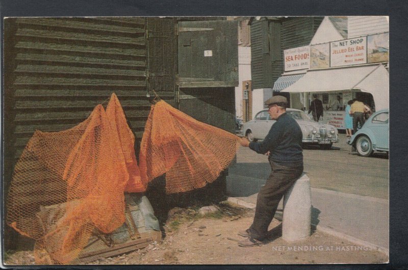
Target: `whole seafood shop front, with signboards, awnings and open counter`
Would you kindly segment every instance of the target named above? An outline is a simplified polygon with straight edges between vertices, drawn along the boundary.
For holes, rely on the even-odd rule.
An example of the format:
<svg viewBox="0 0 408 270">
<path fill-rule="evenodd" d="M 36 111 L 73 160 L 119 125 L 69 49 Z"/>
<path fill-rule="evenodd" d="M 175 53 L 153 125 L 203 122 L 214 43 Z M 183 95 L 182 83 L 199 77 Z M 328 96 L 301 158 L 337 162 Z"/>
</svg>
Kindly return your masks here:
<svg viewBox="0 0 408 270">
<path fill-rule="evenodd" d="M 388 32 L 287 49 L 285 72 L 273 90 L 307 113 L 316 96 L 323 105 L 319 122 L 344 129 L 345 108 L 354 98 L 372 111 L 389 107 L 388 61 Z"/>
</svg>

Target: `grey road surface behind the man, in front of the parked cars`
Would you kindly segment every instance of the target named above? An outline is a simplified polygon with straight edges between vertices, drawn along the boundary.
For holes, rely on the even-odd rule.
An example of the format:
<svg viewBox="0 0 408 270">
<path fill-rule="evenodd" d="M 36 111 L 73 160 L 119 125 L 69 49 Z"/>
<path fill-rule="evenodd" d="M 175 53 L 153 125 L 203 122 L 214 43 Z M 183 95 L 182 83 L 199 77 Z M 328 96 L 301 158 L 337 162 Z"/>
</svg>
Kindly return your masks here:
<svg viewBox="0 0 408 270">
<path fill-rule="evenodd" d="M 388 154 L 375 153 L 371 157 L 350 154 L 351 146 L 345 142 L 345 134 L 340 134 L 340 143 L 334 144 L 331 150 L 320 150 L 318 147 L 303 150 L 304 172 L 310 177 L 311 186 L 388 199 Z M 229 173 L 267 179 L 270 167 L 265 155 L 257 154 L 247 147 L 241 147 L 237 153 L 237 164 L 230 167 Z"/>
</svg>

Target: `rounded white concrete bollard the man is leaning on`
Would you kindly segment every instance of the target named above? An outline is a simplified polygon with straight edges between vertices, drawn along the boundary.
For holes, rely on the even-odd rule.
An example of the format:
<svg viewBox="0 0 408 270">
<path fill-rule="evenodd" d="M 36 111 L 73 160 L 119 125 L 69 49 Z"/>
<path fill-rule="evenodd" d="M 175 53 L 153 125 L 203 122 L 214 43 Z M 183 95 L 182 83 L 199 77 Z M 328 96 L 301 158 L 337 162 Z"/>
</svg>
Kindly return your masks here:
<svg viewBox="0 0 408 270">
<path fill-rule="evenodd" d="M 296 241 L 311 234 L 310 178 L 303 173 L 284 196 L 282 238 Z"/>
</svg>

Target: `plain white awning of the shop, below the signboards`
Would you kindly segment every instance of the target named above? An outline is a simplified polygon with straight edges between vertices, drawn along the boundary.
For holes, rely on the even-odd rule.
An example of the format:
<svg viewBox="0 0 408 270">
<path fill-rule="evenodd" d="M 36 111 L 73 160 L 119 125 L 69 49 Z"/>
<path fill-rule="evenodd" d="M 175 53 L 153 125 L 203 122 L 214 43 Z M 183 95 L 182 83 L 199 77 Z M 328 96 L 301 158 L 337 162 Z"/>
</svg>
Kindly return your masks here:
<svg viewBox="0 0 408 270">
<path fill-rule="evenodd" d="M 383 65 L 309 70 L 282 92 L 361 90 L 373 95 L 375 109 L 389 107 L 389 74 Z"/>
</svg>

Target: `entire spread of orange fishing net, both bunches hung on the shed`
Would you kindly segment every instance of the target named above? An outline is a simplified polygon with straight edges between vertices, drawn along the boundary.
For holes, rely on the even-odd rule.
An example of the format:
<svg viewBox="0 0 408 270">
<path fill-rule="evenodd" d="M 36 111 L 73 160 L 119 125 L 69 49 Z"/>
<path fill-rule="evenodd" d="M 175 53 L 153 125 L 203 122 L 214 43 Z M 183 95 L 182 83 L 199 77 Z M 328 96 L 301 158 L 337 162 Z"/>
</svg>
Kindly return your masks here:
<svg viewBox="0 0 408 270">
<path fill-rule="evenodd" d="M 106 111 L 97 105 L 77 126 L 34 133 L 13 172 L 6 222 L 36 240 L 36 263 L 70 263 L 92 234 L 124 223 L 124 192 L 144 192 L 163 174 L 167 193 L 202 187 L 231 163 L 238 139 L 159 101 L 146 122 L 139 170 L 134 134 L 112 94 Z"/>
</svg>

